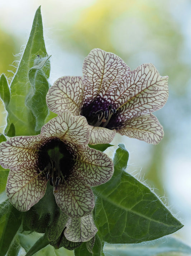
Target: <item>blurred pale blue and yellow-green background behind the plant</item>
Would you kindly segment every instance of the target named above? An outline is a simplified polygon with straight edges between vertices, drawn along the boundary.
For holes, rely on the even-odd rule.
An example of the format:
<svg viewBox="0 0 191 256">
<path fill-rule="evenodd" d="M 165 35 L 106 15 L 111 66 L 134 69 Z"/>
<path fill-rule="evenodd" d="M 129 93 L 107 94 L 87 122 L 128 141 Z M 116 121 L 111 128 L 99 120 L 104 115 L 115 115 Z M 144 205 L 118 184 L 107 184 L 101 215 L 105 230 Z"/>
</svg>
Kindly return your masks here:
<svg viewBox="0 0 191 256">
<path fill-rule="evenodd" d="M 151 62 L 169 76 L 169 99 L 154 113 L 164 127 L 162 142 L 120 135 L 114 142 L 129 151 L 127 171 L 153 188 L 185 225 L 175 237 L 191 246 L 191 1 L 1 0 L 0 74 L 9 81 L 39 5 L 52 55 L 51 84 L 63 75 L 81 76 L 93 48 L 119 55 L 131 69 Z M 0 113 L 0 127 L 2 120 Z"/>
</svg>

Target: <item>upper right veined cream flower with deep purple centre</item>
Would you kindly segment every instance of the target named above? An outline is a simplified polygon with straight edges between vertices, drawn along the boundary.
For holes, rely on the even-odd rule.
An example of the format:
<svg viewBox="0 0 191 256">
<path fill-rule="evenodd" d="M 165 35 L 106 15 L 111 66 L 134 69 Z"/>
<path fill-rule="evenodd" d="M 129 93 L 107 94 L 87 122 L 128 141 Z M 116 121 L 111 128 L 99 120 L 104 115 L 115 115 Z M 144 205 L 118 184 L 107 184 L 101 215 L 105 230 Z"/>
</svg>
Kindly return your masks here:
<svg viewBox="0 0 191 256">
<path fill-rule="evenodd" d="M 109 143 L 115 132 L 157 144 L 163 127 L 152 112 L 168 98 L 168 77 L 153 64 L 130 71 L 113 53 L 93 49 L 83 62 L 83 77 L 63 76 L 47 94 L 54 113 L 70 110 L 85 116 L 90 125 L 90 144 Z"/>
</svg>

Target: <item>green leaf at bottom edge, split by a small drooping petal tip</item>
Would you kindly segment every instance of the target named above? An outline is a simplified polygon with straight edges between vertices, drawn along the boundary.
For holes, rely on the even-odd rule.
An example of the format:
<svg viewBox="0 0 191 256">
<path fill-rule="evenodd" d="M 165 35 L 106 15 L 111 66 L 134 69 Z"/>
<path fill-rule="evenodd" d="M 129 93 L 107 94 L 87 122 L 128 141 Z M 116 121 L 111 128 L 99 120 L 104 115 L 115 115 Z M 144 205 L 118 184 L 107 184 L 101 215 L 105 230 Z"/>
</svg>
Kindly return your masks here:
<svg viewBox="0 0 191 256">
<path fill-rule="evenodd" d="M 104 242 L 102 242 L 99 236 L 95 235 L 95 243 L 92 248 L 92 253 L 87 250 L 86 242 L 74 250 L 75 256 L 104 256 L 103 252 Z"/>
</svg>

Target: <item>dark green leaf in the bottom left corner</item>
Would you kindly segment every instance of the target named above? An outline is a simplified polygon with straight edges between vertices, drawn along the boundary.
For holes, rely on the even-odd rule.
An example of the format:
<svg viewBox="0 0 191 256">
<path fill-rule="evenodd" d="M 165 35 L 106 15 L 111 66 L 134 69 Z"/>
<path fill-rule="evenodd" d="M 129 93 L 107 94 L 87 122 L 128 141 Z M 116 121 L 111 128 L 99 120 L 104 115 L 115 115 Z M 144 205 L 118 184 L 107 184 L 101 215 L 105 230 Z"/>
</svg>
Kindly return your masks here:
<svg viewBox="0 0 191 256">
<path fill-rule="evenodd" d="M 9 207 L 9 211 L 3 216 L 1 221 L 1 240 L 0 240 L 0 252 L 4 256 L 8 251 L 11 243 L 14 239 L 15 234 L 17 233 L 20 225 L 22 212 L 16 210 L 14 206 Z"/>
</svg>

